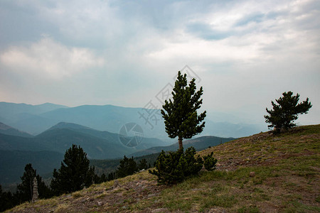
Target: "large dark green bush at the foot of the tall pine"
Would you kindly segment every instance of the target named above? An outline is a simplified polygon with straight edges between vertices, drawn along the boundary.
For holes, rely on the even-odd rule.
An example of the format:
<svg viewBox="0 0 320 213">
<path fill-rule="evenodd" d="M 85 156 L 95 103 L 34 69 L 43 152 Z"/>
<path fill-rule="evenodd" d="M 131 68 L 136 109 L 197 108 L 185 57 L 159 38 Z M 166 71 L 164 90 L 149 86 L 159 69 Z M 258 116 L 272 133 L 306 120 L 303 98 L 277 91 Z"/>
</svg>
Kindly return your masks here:
<svg viewBox="0 0 320 213">
<path fill-rule="evenodd" d="M 160 184 L 172 185 L 182 182 L 190 175 L 196 175 L 202 168 L 203 160 L 198 155 L 194 157 L 196 149 L 190 147 L 183 153 L 183 149 L 166 154 L 162 151 L 156 160 L 156 169 L 149 173 L 158 176 Z"/>
</svg>

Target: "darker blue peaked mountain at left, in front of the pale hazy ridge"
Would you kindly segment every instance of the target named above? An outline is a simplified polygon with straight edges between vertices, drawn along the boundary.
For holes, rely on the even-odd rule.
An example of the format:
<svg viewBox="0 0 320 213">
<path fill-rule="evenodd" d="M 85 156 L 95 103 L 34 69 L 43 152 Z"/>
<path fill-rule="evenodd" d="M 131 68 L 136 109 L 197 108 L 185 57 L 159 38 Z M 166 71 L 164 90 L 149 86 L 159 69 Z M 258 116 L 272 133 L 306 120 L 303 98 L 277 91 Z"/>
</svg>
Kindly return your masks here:
<svg viewBox="0 0 320 213">
<path fill-rule="evenodd" d="M 52 173 L 53 168 L 60 167 L 65 151 L 72 144 L 81 146 L 88 158 L 112 159 L 168 143 L 144 138 L 139 146 L 130 148 L 120 143 L 119 134 L 65 122 L 34 137 L 0 133 L 0 184 L 18 181 L 27 163 L 32 163 L 40 174 Z"/>
</svg>

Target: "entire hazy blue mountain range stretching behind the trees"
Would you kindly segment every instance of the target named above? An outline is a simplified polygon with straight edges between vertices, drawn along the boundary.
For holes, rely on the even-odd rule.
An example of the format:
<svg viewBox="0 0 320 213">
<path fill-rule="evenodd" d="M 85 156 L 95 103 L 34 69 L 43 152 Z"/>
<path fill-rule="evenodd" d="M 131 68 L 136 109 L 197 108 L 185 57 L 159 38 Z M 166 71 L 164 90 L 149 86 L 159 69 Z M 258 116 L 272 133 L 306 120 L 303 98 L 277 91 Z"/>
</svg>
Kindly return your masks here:
<svg viewBox="0 0 320 213">
<path fill-rule="evenodd" d="M 65 107 L 50 103 L 0 102 L 0 183 L 18 182 L 27 163 L 32 163 L 40 175 L 51 173 L 53 168 L 60 167 L 63 154 L 72 144 L 81 146 L 91 160 L 175 151 L 178 144 L 167 137 L 159 110 L 154 109 L 153 117 L 146 120 L 144 116 L 148 113 L 149 109 L 112 105 Z M 124 146 L 121 141 L 121 138 L 131 140 L 137 136 L 137 132 L 129 132 L 128 123 L 142 129 L 139 132 L 142 142 L 134 147 Z M 235 137 L 257 131 L 246 124 L 207 120 L 203 134 L 183 144 L 185 148 L 194 146 L 201 150 L 233 140 L 210 136 L 210 133 Z"/>
</svg>

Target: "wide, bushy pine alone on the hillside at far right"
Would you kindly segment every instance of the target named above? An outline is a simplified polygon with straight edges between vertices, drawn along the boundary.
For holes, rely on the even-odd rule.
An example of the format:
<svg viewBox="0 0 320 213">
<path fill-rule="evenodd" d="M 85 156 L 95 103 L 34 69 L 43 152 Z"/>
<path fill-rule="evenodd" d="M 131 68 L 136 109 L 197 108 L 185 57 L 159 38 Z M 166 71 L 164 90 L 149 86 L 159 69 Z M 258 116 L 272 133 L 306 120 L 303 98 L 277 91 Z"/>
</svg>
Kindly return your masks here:
<svg viewBox="0 0 320 213">
<path fill-rule="evenodd" d="M 307 114 L 312 107 L 309 98 L 304 102 L 299 102 L 300 95 L 293 95 L 291 91 L 282 93 L 283 97 L 276 99 L 277 104 L 271 102 L 273 109 L 267 109 L 269 115 L 265 115 L 266 123 L 269 128 L 274 128 L 276 132 L 282 129 L 290 129 L 296 124 L 294 121 L 298 119 L 298 114 Z"/>
</svg>

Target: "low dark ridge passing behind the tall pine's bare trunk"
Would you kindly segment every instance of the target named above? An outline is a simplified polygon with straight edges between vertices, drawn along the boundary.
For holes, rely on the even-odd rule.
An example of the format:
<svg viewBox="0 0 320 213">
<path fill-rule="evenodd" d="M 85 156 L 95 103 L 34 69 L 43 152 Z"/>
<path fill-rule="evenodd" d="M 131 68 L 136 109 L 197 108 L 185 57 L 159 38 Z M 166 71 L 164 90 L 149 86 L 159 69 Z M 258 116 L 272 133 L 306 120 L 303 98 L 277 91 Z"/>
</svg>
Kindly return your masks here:
<svg viewBox="0 0 320 213">
<path fill-rule="evenodd" d="M 183 148 L 189 148 L 193 146 L 197 151 L 201 151 L 209 146 L 218 146 L 220 143 L 225 143 L 228 141 L 233 141 L 235 138 L 219 138 L 215 136 L 202 136 L 199 138 L 194 138 L 190 140 L 183 141 Z M 154 153 L 160 153 L 161 151 L 177 151 L 179 148 L 178 143 L 174 143 L 171 146 L 156 146 L 148 148 L 144 151 L 138 151 L 132 153 L 133 156 L 150 155 Z"/>
</svg>

